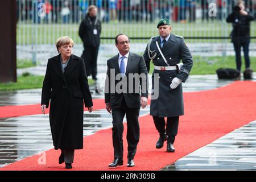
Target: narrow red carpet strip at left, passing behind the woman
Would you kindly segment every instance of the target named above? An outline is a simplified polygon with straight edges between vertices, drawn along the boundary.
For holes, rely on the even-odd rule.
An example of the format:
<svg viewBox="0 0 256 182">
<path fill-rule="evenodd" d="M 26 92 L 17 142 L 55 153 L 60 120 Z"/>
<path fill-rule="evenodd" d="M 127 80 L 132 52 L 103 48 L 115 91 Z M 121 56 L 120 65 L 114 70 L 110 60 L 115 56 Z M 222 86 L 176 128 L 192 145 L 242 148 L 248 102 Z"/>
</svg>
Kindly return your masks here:
<svg viewBox="0 0 256 182">
<path fill-rule="evenodd" d="M 104 109 L 103 99 L 94 99 L 93 100 L 93 109 Z M 85 108 L 84 110 L 87 110 Z M 49 108 L 46 109 L 46 114 L 49 113 Z M 42 114 L 41 105 L 40 104 L 32 104 L 32 105 L 19 105 L 19 106 L 1 106 L 0 107 L 0 118 L 10 118 L 10 117 L 18 117 L 22 115 L 34 115 L 34 114 Z"/>
</svg>

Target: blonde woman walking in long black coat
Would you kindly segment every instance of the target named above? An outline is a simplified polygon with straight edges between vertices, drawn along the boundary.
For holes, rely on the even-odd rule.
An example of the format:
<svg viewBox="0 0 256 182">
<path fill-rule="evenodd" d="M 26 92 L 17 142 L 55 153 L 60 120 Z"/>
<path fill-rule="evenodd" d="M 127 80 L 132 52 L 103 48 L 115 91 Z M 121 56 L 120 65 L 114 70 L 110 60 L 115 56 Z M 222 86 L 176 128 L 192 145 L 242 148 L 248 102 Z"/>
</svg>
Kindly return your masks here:
<svg viewBox="0 0 256 182">
<path fill-rule="evenodd" d="M 49 109 L 49 121 L 55 150 L 60 149 L 59 163 L 72 168 L 75 149 L 83 147 L 84 105 L 93 109 L 84 60 L 72 55 L 73 40 L 63 36 L 56 41 L 59 55 L 47 63 L 43 81 L 41 109 Z"/>
</svg>

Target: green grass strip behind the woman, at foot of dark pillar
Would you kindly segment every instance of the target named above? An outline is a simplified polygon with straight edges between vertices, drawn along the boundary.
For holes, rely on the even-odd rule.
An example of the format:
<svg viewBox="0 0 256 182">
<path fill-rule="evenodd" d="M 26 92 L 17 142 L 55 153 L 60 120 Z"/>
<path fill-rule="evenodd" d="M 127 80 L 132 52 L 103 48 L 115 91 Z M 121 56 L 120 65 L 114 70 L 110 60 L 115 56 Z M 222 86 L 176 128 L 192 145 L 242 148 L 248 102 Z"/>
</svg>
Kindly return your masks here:
<svg viewBox="0 0 256 182">
<path fill-rule="evenodd" d="M 17 82 L 0 84 L 0 91 L 13 91 L 22 89 L 42 88 L 44 76 L 19 76 Z M 89 79 L 89 85 L 94 84 L 94 80 Z"/>
</svg>

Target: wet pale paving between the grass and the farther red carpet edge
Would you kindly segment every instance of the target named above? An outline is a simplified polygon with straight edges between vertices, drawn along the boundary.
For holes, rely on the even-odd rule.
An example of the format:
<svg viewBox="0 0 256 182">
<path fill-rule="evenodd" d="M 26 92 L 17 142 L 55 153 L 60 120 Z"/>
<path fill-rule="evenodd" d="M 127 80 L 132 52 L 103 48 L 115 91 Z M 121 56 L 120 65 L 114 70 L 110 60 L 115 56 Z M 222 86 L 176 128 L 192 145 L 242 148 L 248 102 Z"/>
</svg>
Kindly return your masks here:
<svg viewBox="0 0 256 182">
<path fill-rule="evenodd" d="M 105 73 L 98 74 L 97 85 L 90 86 L 93 98 L 104 98 Z M 256 74 L 255 74 L 256 77 Z M 151 78 L 150 86 L 151 88 Z M 215 89 L 231 83 L 232 80 L 218 80 L 216 75 L 191 75 L 183 83 L 184 92 Z M 96 93 L 96 89 L 100 94 Z M 0 92 L 0 106 L 39 104 L 42 89 L 18 90 L 14 92 Z"/>
</svg>

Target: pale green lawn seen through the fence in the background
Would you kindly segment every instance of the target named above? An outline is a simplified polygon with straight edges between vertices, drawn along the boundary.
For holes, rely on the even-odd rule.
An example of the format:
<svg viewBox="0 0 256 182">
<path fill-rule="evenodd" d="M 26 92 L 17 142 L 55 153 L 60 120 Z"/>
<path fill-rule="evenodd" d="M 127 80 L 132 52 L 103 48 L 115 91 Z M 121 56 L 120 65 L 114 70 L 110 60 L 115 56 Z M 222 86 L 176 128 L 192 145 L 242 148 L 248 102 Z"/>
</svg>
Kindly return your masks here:
<svg viewBox="0 0 256 182">
<path fill-rule="evenodd" d="M 119 33 L 125 33 L 131 38 L 149 38 L 151 36 L 158 35 L 158 29 L 156 28 L 157 22 L 146 23 L 146 22 L 119 22 L 119 23 L 102 23 L 102 38 L 114 38 Z M 195 36 L 228 36 L 232 30 L 230 23 L 222 22 L 220 20 L 214 20 L 209 22 L 201 22 L 197 20 L 195 23 L 177 23 L 172 22 L 172 32 L 176 35 L 184 37 L 195 37 Z M 37 27 L 37 28 L 35 28 Z M 79 24 L 17 24 L 16 40 L 17 44 L 54 44 L 56 39 L 60 36 L 71 36 L 75 41 L 75 44 L 81 44 L 81 40 L 78 35 Z M 256 36 L 256 22 L 251 22 L 251 36 Z M 38 36 L 35 39 L 35 31 L 37 30 Z M 113 40 L 101 40 L 101 43 L 110 43 Z M 134 40 L 133 42 L 147 42 L 147 40 Z M 194 42 L 221 42 L 221 39 L 210 39 L 210 40 L 197 40 L 189 39 L 189 43 Z M 251 40 L 256 42 L 256 39 Z"/>
</svg>

